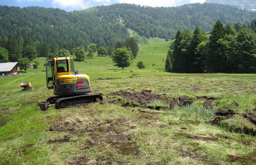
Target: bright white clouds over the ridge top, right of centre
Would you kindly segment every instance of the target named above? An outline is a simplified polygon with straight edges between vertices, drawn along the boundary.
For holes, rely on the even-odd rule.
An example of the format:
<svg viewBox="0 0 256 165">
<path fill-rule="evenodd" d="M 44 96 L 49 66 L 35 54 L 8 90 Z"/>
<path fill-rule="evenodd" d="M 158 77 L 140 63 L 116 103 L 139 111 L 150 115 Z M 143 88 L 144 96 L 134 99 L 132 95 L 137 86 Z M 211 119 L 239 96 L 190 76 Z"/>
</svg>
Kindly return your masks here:
<svg viewBox="0 0 256 165">
<path fill-rule="evenodd" d="M 117 0 L 119 3 L 140 4 L 152 7 L 176 6 L 182 0 Z M 205 0 L 188 0 L 189 3 L 203 3 Z"/>
</svg>

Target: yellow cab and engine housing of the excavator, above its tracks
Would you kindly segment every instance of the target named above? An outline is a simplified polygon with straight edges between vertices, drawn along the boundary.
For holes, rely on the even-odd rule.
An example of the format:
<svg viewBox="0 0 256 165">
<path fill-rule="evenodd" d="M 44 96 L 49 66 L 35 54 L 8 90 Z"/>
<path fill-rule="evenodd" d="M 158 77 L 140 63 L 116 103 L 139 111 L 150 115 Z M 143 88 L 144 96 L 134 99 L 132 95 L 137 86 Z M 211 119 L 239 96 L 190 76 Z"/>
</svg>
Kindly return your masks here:
<svg viewBox="0 0 256 165">
<path fill-rule="evenodd" d="M 77 74 L 71 57 L 58 57 L 46 61 L 46 86 L 47 89 L 54 89 L 57 96 L 91 92 L 89 76 Z"/>
</svg>

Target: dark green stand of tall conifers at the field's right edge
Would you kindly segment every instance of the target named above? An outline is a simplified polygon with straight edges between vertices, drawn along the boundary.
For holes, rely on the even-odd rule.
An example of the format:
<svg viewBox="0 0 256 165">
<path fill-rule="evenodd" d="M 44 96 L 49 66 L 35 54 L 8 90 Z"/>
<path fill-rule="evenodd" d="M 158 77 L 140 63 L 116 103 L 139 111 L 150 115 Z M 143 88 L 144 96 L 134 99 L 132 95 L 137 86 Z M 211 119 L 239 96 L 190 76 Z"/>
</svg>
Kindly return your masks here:
<svg viewBox="0 0 256 165">
<path fill-rule="evenodd" d="M 178 30 L 165 69 L 179 73 L 256 73 L 256 19 L 249 26 L 217 20 L 210 35 Z M 238 28 L 240 27 L 240 28 Z"/>
</svg>

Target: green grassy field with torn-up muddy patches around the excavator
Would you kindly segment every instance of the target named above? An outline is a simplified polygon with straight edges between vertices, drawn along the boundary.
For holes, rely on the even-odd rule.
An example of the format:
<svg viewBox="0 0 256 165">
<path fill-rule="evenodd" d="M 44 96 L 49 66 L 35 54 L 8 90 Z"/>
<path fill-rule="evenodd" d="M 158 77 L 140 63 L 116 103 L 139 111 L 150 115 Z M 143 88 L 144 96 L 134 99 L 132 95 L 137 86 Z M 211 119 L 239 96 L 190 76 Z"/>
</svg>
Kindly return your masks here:
<svg viewBox="0 0 256 165">
<path fill-rule="evenodd" d="M 256 74 L 165 72 L 170 43 L 150 39 L 124 70 L 110 57 L 75 61 L 103 103 L 38 110 L 36 101 L 53 96 L 46 90 L 43 57 L 38 69 L 0 77 L 0 165 L 252 165 Z M 137 69 L 138 61 L 146 69 Z M 22 92 L 22 81 L 33 90 Z M 129 99 L 143 97 L 142 90 L 156 99 Z M 190 104 L 181 105 L 182 98 Z M 227 109 L 232 114 L 216 116 Z"/>
</svg>

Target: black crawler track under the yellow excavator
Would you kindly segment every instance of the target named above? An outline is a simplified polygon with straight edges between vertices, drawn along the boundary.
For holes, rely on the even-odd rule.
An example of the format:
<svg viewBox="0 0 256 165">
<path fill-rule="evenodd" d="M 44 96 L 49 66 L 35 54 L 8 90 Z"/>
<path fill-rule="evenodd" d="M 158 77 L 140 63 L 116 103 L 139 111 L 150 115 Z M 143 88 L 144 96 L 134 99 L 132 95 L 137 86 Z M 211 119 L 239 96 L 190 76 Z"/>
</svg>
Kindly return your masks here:
<svg viewBox="0 0 256 165">
<path fill-rule="evenodd" d="M 100 94 L 61 97 L 56 99 L 55 108 L 56 109 L 66 108 L 71 105 L 100 102 L 102 100 L 103 100 L 103 97 Z"/>
</svg>

